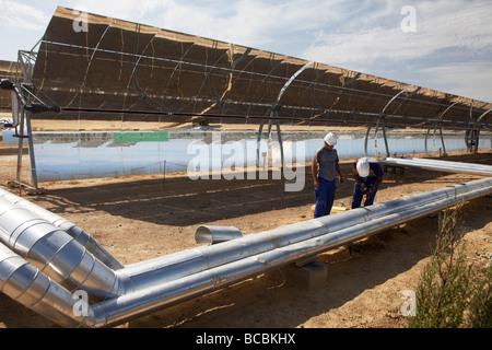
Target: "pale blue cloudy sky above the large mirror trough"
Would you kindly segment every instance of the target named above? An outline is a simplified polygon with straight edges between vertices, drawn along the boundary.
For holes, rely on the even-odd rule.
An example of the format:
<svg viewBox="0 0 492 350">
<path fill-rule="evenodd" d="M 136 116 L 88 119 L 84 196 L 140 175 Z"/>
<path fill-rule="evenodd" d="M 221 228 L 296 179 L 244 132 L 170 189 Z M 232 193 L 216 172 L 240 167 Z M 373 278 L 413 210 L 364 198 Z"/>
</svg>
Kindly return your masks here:
<svg viewBox="0 0 492 350">
<path fill-rule="evenodd" d="M 490 0 L 0 0 L 0 60 L 57 5 L 492 103 Z"/>
</svg>

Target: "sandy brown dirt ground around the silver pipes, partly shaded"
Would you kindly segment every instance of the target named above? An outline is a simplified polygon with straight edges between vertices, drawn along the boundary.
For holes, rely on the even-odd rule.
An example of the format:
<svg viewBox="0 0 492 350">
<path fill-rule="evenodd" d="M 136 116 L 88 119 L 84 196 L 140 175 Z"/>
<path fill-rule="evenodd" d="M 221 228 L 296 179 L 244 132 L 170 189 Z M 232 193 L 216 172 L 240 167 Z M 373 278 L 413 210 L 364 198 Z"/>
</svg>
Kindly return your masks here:
<svg viewBox="0 0 492 350">
<path fill-rule="evenodd" d="M 456 152 L 445 160 L 492 165 L 492 151 Z M 0 185 L 15 179 L 16 164 L 16 147 L 0 142 Z M 343 161 L 341 170 L 344 182 L 338 185 L 336 205 L 350 206 L 351 161 Z M 386 174 L 376 202 L 481 177 L 407 168 L 405 175 Z M 191 180 L 186 174 L 39 186 L 44 195 L 11 190 L 83 228 L 124 265 L 196 247 L 195 231 L 201 224 L 233 225 L 249 234 L 308 220 L 315 200 L 308 167 L 298 192 L 285 192 L 284 180 Z M 467 256 L 476 269 L 491 264 L 491 197 L 464 207 Z M 340 247 L 319 255 L 328 275 L 314 290 L 276 270 L 118 327 L 400 328 L 406 324 L 400 295 L 415 290 L 436 229 L 437 217 L 430 215 L 361 240 L 353 254 Z M 0 293 L 0 327 L 57 325 Z"/>
</svg>

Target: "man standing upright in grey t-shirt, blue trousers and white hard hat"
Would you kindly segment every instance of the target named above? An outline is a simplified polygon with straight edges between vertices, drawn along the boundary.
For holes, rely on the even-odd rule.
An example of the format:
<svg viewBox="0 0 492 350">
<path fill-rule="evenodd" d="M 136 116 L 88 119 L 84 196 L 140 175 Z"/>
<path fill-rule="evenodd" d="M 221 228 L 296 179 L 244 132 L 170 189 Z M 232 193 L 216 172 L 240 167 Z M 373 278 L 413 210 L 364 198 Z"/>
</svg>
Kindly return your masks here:
<svg viewBox="0 0 492 350">
<path fill-rule="evenodd" d="M 335 133 L 328 132 L 324 141 L 324 145 L 316 151 L 312 164 L 316 196 L 314 218 L 329 215 L 335 200 L 337 174 L 339 182 L 343 182 L 338 164 L 340 160 L 335 149 L 337 137 Z"/>
</svg>

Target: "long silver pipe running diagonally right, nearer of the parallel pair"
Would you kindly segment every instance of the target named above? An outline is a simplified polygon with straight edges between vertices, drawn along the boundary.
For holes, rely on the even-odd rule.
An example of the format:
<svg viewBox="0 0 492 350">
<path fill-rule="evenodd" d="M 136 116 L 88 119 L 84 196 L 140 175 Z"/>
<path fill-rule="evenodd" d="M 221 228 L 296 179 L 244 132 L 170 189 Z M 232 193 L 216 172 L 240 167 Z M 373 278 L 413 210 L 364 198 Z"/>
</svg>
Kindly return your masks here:
<svg viewBox="0 0 492 350">
<path fill-rule="evenodd" d="M 185 276 L 174 281 L 154 284 L 94 305 L 97 314 L 94 322 L 96 326 L 101 327 L 142 316 L 285 266 L 298 259 L 358 241 L 410 220 L 443 210 L 446 207 L 456 205 L 458 201 L 469 200 L 489 194 L 492 194 L 491 182 L 483 188 L 441 198 L 440 200 L 427 202 L 423 206 L 415 205 L 407 207 L 405 210 L 395 210 L 387 215 L 356 225 L 347 222 L 343 229 L 329 234 L 250 255 L 229 264 Z M 104 317 L 102 317 L 103 315 Z"/>
</svg>

